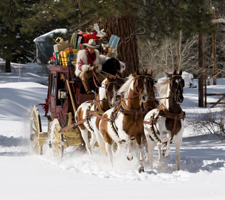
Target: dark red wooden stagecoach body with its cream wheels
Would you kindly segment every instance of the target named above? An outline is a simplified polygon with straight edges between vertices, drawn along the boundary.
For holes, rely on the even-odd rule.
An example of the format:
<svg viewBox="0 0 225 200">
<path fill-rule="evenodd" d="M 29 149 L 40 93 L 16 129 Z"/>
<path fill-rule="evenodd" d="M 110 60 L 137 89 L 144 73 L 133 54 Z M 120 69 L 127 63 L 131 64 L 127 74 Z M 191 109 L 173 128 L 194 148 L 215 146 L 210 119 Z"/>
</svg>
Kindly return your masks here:
<svg viewBox="0 0 225 200">
<path fill-rule="evenodd" d="M 109 68 L 113 73 L 118 69 L 124 71 L 125 65 L 115 58 L 103 61 L 103 69 Z M 49 81 L 46 102 L 35 105 L 31 110 L 30 141 L 35 153 L 43 154 L 43 146 L 48 144 L 54 156 L 62 157 L 64 149 L 69 146 L 83 147 L 79 129 L 74 126 L 76 108 L 85 101 L 95 99 L 98 93 L 96 82 L 89 81 L 92 94 L 86 94 L 80 78 L 74 74 L 74 66 L 49 65 Z M 48 120 L 47 132 L 42 132 L 41 114 L 42 106 Z"/>
</svg>

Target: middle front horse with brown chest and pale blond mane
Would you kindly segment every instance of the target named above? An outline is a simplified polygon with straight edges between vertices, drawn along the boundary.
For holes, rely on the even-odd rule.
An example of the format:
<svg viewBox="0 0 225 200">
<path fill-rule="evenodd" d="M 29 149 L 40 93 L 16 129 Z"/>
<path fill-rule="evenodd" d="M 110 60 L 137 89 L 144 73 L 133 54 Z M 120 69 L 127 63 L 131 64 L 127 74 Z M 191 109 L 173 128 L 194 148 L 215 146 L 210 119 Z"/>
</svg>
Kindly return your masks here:
<svg viewBox="0 0 225 200">
<path fill-rule="evenodd" d="M 149 84 L 149 81 L 152 83 Z M 131 74 L 117 93 L 123 95 L 121 104 L 113 107 L 103 114 L 108 121 L 100 121 L 100 132 L 105 141 L 106 151 L 113 166 L 112 145 L 117 143 L 120 152 L 121 144 L 127 148 L 127 159 L 132 160 L 131 140 L 135 139 L 140 151 L 140 166 L 138 171 L 143 171 L 143 116 L 140 101 L 148 100 L 148 87 L 153 86 L 150 76 Z M 152 88 L 153 90 L 153 88 Z"/>
</svg>

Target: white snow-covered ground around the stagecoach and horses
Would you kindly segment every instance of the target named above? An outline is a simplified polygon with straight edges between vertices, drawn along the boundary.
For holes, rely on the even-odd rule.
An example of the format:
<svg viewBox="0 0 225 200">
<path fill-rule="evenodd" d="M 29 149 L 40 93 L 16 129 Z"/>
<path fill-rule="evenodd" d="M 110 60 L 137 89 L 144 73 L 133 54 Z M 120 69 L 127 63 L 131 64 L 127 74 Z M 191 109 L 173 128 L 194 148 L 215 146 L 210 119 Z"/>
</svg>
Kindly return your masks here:
<svg viewBox="0 0 225 200">
<path fill-rule="evenodd" d="M 121 155 L 112 168 L 97 148 L 93 156 L 69 148 L 62 161 L 49 150 L 43 156 L 31 154 L 29 108 L 44 102 L 46 82 L 36 64 L 13 64 L 12 73 L 0 72 L 0 199 L 224 199 L 225 143 L 194 133 L 194 127 L 184 132 L 180 171 L 175 170 L 174 146 L 154 170 L 145 163 L 142 174 L 137 158 L 127 161 Z M 220 79 L 209 91 L 224 93 L 224 83 Z M 197 107 L 198 89 L 185 88 L 184 96 L 188 119 L 208 112 Z"/>
</svg>

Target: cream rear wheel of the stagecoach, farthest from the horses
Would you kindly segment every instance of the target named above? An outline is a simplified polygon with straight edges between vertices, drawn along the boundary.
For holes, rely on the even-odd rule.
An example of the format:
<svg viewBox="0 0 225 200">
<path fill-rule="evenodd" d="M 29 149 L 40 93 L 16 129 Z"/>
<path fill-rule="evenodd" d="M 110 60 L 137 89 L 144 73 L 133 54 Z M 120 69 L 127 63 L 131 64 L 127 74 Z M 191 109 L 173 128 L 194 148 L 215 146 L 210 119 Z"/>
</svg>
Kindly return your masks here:
<svg viewBox="0 0 225 200">
<path fill-rule="evenodd" d="M 32 107 L 30 116 L 30 144 L 32 151 L 38 155 L 43 154 L 43 145 L 38 141 L 41 132 L 41 118 L 36 106 Z"/>
</svg>

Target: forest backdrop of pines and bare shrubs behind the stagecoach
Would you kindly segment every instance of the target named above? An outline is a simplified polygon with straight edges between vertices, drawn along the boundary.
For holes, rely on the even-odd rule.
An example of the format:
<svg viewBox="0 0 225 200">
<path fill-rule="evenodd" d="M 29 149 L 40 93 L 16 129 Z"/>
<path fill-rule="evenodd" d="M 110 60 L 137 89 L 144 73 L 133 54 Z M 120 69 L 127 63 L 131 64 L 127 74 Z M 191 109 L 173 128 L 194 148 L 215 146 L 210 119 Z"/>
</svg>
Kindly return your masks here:
<svg viewBox="0 0 225 200">
<path fill-rule="evenodd" d="M 212 23 L 225 18 L 224 0 L 2 0 L 0 8 L 0 58 L 6 72 L 11 62 L 35 60 L 34 38 L 67 28 L 63 37 L 69 39 L 75 30 L 97 22 L 108 37 L 121 38 L 118 58 L 126 62 L 127 74 L 153 69 L 159 76 L 182 69 L 197 75 L 199 35 L 204 35 L 207 75 L 213 76 L 216 63 L 216 76 L 224 76 L 225 25 Z"/>
</svg>

